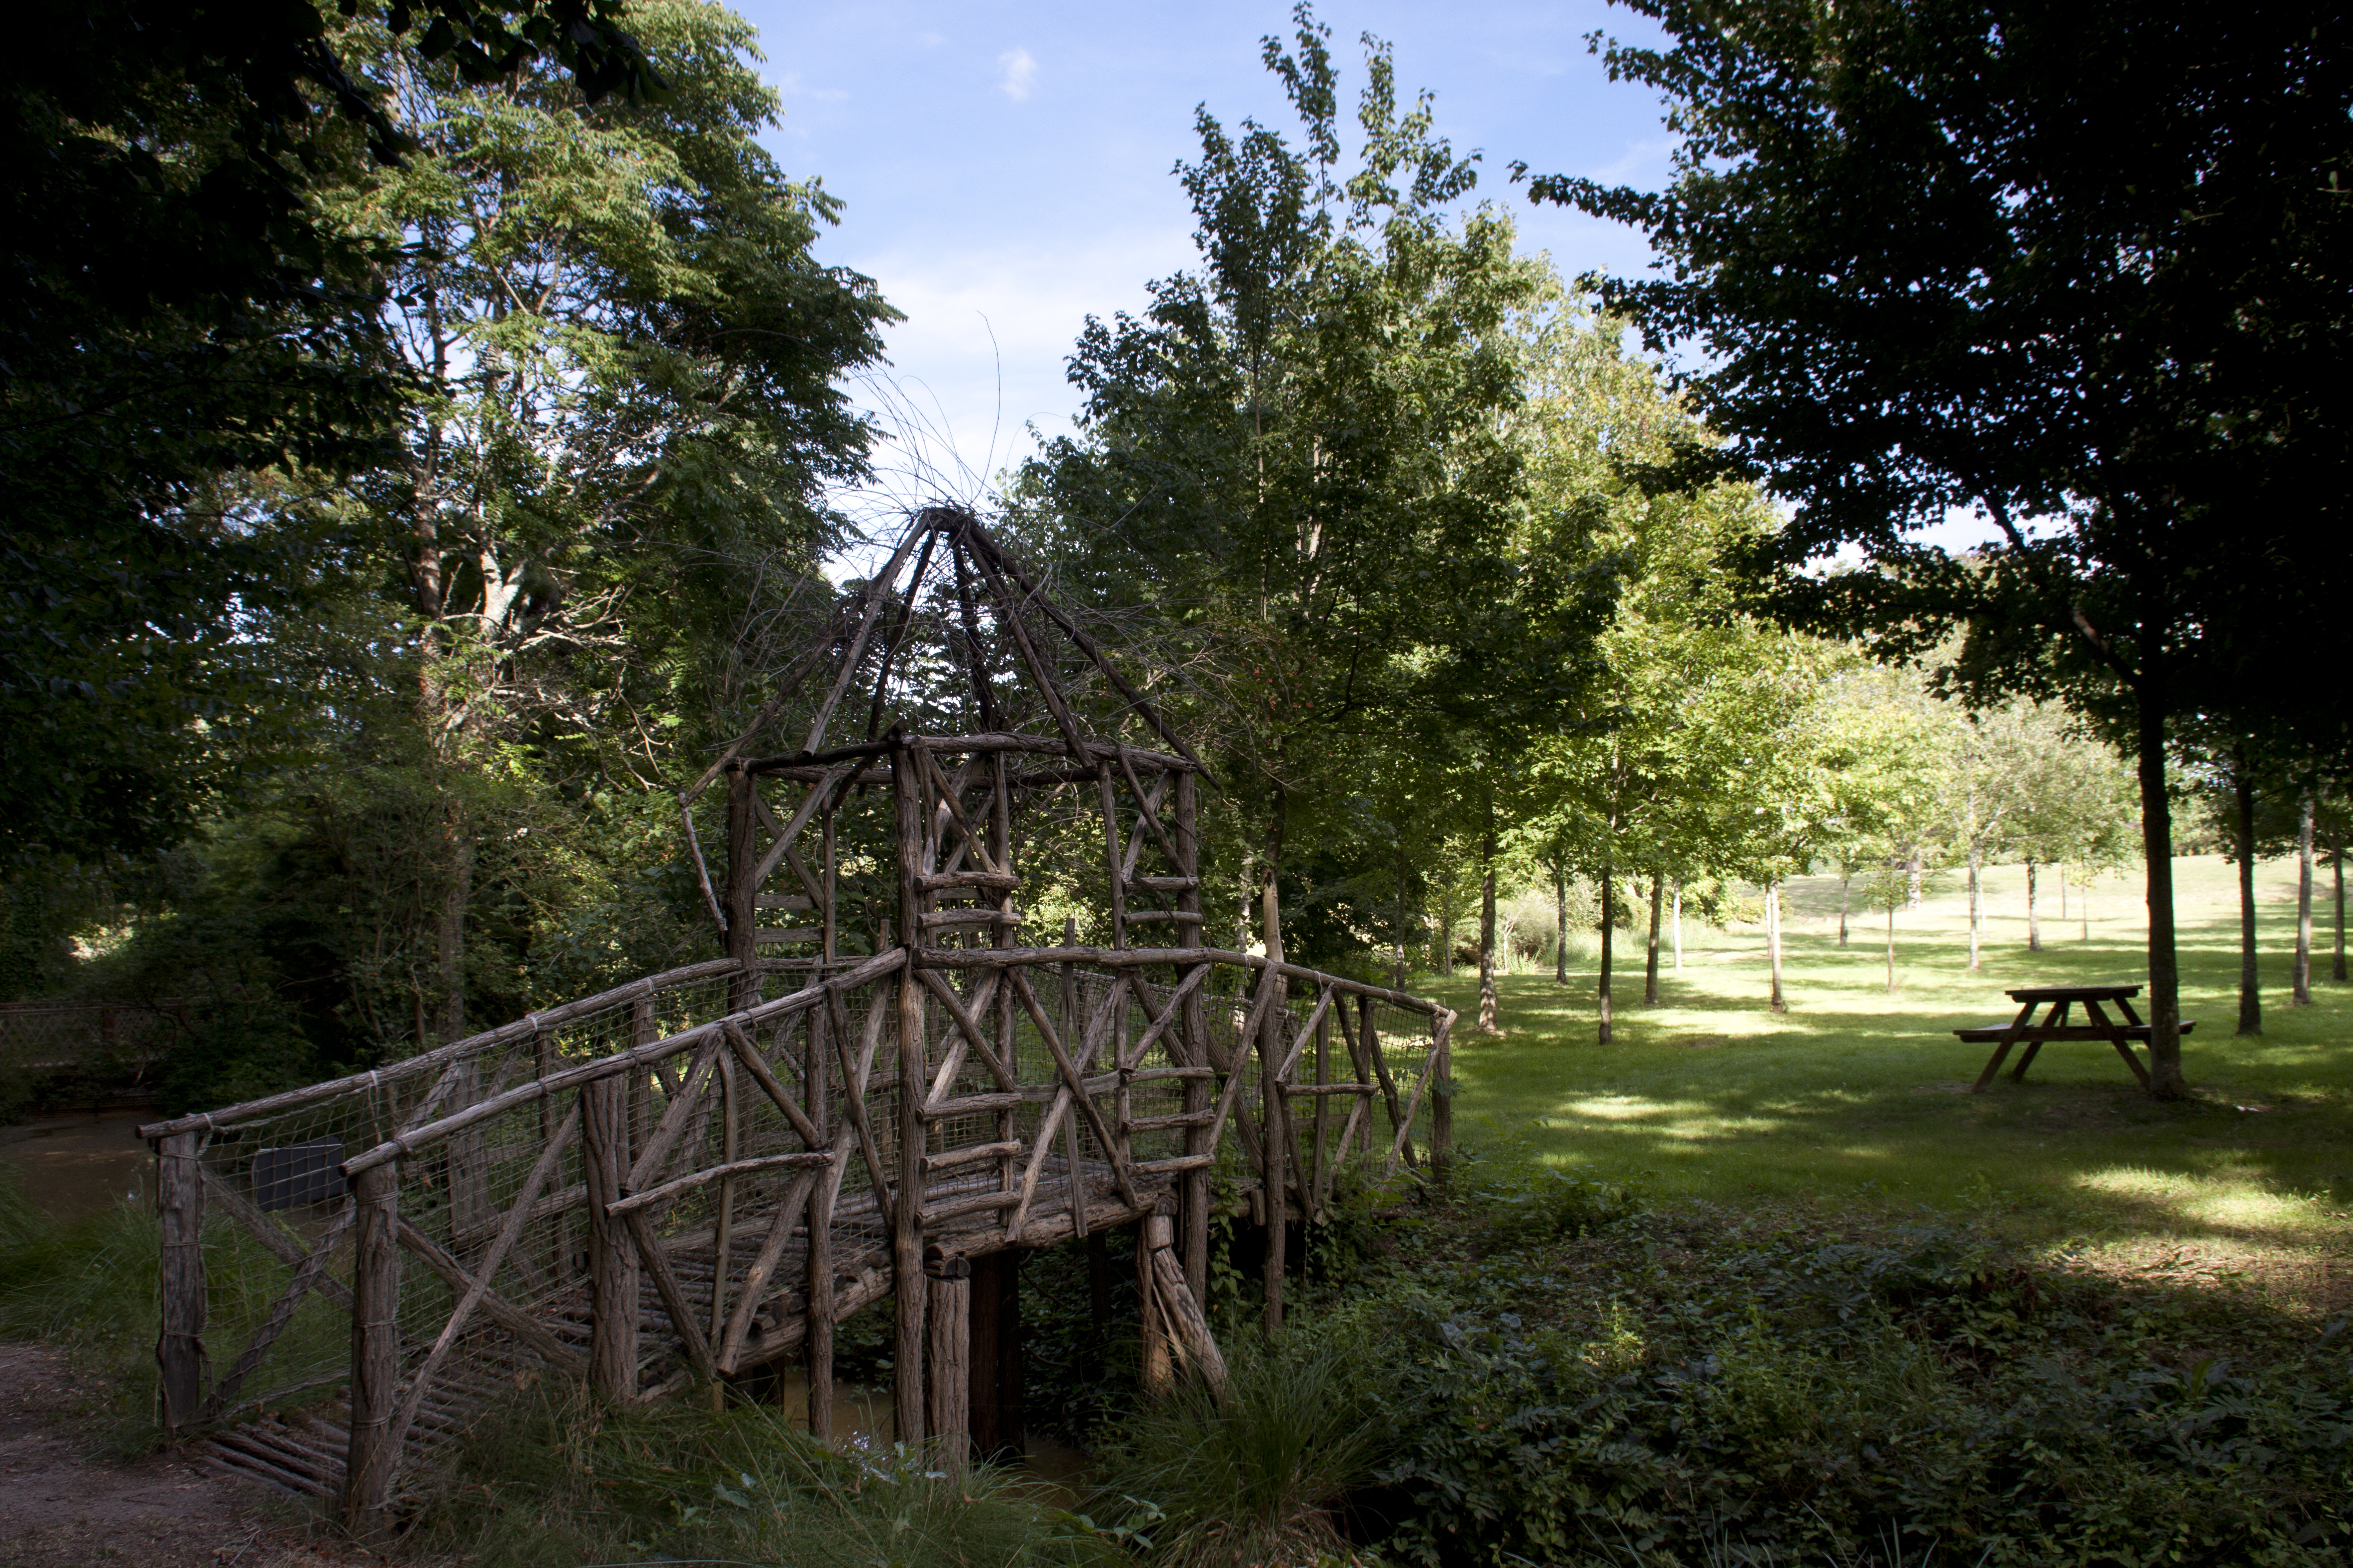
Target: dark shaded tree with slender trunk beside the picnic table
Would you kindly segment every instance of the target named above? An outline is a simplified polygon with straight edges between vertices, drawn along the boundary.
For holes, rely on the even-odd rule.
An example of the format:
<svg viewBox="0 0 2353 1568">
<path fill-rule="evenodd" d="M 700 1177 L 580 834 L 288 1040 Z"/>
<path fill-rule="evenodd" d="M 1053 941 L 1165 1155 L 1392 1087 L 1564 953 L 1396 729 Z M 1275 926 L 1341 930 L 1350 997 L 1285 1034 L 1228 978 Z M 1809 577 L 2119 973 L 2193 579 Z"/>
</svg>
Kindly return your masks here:
<svg viewBox="0 0 2353 1568">
<path fill-rule="evenodd" d="M 1642 226 L 1609 282 L 1725 449 L 1795 503 L 1755 571 L 1779 609 L 1899 654 L 1965 623 L 1981 696 L 2066 693 L 2139 757 L 2153 1093 L 2181 1095 L 2167 719 L 2273 712 L 2341 750 L 2311 693 L 2353 562 L 2341 197 L 2353 19 L 2186 0 L 1624 0 L 1668 47 L 1609 71 L 1668 96 L 1668 190 L 1546 176 Z M 1911 529 L 1974 508 L 1953 562 Z M 1859 545 L 1873 571 L 1807 564 Z"/>
</svg>

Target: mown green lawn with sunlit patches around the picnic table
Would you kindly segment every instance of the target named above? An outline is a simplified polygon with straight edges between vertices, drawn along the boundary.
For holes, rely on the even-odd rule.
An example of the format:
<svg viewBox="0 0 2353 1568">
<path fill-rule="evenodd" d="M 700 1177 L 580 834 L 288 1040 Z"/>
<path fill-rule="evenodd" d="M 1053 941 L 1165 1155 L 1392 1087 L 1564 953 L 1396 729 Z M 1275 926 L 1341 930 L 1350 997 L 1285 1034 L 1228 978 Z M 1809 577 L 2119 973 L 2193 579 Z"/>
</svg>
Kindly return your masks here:
<svg viewBox="0 0 2353 1568">
<path fill-rule="evenodd" d="M 2327 872 L 2315 889 L 2315 985 L 2287 1006 L 2294 863 L 2257 867 L 2264 1034 L 2235 1039 L 2235 867 L 2177 860 L 2184 1041 L 2195 1098 L 2158 1105 L 2106 1041 L 2052 1044 L 2024 1084 L 1969 1084 L 1986 1046 L 1951 1030 L 2007 1020 L 2012 985 L 2141 983 L 2137 872 L 2092 893 L 2089 936 L 2042 875 L 2042 952 L 2026 950 L 2026 872 L 1986 877 L 1984 966 L 1967 973 L 1967 893 L 1946 877 L 1897 912 L 1887 994 L 1885 912 L 1857 912 L 1838 947 L 1838 882 L 1786 893 L 1784 985 L 1767 1011 L 1765 936 L 1685 924 L 1661 1004 L 1642 1006 L 1642 945 L 1621 943 L 1617 1044 L 1593 1041 L 1593 969 L 1501 980 L 1504 1039 L 1482 1037 L 1478 980 L 1424 976 L 1457 1006 L 1457 1117 L 1466 1143 L 1525 1143 L 1546 1159 L 1647 1192 L 1929 1206 L 1991 1218 L 2137 1272 L 2209 1276 L 2329 1309 L 2353 1298 L 2353 985 L 2327 980 Z M 1661 938 L 1661 945 L 1664 938 Z M 2146 1016 L 2146 1013 L 2144 1013 Z M 2285 1305 L 2285 1302 L 2282 1302 Z"/>
</svg>

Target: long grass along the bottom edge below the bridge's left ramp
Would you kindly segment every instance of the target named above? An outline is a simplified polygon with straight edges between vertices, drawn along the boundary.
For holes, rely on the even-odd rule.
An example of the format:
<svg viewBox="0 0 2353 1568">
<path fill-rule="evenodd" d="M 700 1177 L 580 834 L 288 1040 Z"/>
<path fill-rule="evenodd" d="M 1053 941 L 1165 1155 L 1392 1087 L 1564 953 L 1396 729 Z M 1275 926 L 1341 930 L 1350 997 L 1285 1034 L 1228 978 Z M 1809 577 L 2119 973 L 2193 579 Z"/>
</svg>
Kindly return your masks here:
<svg viewBox="0 0 2353 1568">
<path fill-rule="evenodd" d="M 539 1385 L 428 1486 L 409 1552 L 468 1568 L 725 1561 L 791 1568 L 1113 1568 L 1111 1537 L 993 1467 L 828 1448 L 774 1406 L 614 1410 Z"/>
</svg>

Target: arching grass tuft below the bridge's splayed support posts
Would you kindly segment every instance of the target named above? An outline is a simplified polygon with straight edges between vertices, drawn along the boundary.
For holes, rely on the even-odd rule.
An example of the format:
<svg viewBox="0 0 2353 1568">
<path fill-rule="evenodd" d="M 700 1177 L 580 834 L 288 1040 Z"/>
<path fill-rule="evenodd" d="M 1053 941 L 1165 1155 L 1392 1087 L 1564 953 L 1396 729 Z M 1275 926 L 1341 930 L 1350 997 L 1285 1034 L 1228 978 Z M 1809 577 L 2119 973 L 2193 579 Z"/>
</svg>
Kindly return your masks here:
<svg viewBox="0 0 2353 1568">
<path fill-rule="evenodd" d="M 1231 1387 L 1146 1403 L 1101 1450 L 1094 1512 L 1169 1568 L 1311 1566 L 1344 1556 L 1341 1505 L 1365 1486 L 1381 1418 L 1339 1333 L 1228 1345 Z"/>
</svg>

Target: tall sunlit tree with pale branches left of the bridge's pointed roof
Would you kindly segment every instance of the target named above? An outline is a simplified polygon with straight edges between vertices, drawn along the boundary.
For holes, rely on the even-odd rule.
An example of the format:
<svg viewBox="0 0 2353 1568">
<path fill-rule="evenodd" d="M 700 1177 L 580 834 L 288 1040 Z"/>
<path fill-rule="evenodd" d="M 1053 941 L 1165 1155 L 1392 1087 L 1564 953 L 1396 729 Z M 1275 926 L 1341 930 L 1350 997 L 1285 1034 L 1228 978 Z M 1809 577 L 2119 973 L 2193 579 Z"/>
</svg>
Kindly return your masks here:
<svg viewBox="0 0 2353 1568">
<path fill-rule="evenodd" d="M 424 393 L 355 503 L 398 562 L 440 795 L 442 1034 L 466 1009 L 468 780 L 659 778 L 678 665 L 708 668 L 748 585 L 814 571 L 833 541 L 821 489 L 864 473 L 868 435 L 835 378 L 894 315 L 809 254 L 835 205 L 758 143 L 776 94 L 751 26 L 701 0 L 631 24 L 671 82 L 659 103 L 353 40 L 412 148 L 336 212 L 412 237 L 388 329 Z"/>
</svg>

